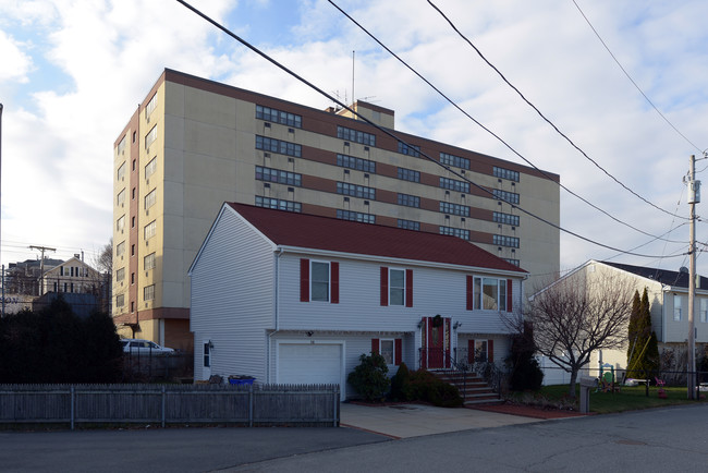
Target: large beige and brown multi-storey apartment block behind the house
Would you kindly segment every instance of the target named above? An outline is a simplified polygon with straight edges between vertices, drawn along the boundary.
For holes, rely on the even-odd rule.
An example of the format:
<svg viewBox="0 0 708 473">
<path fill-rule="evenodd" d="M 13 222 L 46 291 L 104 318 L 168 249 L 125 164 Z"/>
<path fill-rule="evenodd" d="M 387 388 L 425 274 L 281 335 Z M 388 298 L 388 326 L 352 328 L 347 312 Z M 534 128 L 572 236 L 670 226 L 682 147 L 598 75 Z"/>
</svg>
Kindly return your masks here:
<svg viewBox="0 0 708 473">
<path fill-rule="evenodd" d="M 532 277 L 558 272 L 558 228 L 518 210 L 558 226 L 558 174 L 395 131 L 390 109 L 353 108 L 405 144 L 346 110 L 164 70 L 114 143 L 119 331 L 192 348 L 187 269 L 224 202 L 453 234 Z"/>
</svg>

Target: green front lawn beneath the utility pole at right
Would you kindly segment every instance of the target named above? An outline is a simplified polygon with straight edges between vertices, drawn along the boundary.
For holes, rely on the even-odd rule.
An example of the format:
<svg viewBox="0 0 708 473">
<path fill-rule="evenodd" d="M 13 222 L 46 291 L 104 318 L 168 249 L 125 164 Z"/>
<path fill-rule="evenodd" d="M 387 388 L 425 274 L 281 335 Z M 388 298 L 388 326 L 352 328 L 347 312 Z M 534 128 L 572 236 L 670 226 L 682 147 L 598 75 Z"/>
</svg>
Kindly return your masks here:
<svg viewBox="0 0 708 473">
<path fill-rule="evenodd" d="M 637 409 L 659 408 L 663 405 L 676 405 L 695 403 L 686 399 L 686 387 L 668 387 L 664 388 L 667 399 L 658 396 L 656 386 L 649 387 L 649 397 L 646 396 L 644 386 L 626 387 L 623 386 L 620 392 L 594 392 L 590 390 L 590 412 L 598 414 L 608 414 L 611 412 L 634 411 Z M 705 395 L 705 393 L 704 393 Z M 518 402 L 526 402 L 537 405 L 550 405 L 561 409 L 574 407 L 578 409 L 581 399 L 579 387 L 575 390 L 575 403 L 571 402 L 567 397 L 567 385 L 544 386 L 538 392 L 513 393 L 512 399 Z M 701 399 L 701 402 L 706 402 Z"/>
</svg>

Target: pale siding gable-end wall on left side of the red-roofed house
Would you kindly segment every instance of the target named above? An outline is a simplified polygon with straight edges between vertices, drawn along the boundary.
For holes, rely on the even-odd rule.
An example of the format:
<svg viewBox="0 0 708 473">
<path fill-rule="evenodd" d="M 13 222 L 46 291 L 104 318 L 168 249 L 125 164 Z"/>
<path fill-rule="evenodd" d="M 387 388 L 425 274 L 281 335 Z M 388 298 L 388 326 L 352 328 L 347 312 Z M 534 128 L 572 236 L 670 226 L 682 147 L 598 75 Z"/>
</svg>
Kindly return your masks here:
<svg viewBox="0 0 708 473">
<path fill-rule="evenodd" d="M 240 242 L 248 241 L 247 245 Z M 266 379 L 266 329 L 274 326 L 272 246 L 225 209 L 192 268 L 190 329 L 210 333 L 211 374 Z M 195 357 L 195 374 L 202 357 Z M 198 366 L 197 366 L 198 364 Z"/>
</svg>

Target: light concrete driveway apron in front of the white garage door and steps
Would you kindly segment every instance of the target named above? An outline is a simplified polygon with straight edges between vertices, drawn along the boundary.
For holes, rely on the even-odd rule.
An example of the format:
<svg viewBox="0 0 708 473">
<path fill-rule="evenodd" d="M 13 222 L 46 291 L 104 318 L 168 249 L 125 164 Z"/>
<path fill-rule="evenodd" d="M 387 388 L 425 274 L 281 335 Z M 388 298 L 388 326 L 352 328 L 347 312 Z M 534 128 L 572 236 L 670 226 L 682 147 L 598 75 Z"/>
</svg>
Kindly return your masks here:
<svg viewBox="0 0 708 473">
<path fill-rule="evenodd" d="M 520 415 L 422 404 L 371 407 L 344 402 L 340 412 L 342 427 L 358 428 L 391 438 L 539 422 L 538 419 Z"/>
</svg>

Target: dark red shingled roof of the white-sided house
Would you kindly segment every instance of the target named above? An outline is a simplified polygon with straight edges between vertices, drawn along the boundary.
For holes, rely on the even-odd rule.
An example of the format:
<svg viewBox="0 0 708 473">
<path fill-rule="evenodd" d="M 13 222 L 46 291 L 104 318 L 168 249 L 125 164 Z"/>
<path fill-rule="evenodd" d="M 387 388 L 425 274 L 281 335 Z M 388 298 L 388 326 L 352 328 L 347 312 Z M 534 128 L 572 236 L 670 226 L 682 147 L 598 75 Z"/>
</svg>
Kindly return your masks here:
<svg viewBox="0 0 708 473">
<path fill-rule="evenodd" d="M 278 245 L 526 272 L 456 237 L 227 204 Z"/>
</svg>

